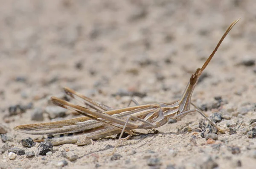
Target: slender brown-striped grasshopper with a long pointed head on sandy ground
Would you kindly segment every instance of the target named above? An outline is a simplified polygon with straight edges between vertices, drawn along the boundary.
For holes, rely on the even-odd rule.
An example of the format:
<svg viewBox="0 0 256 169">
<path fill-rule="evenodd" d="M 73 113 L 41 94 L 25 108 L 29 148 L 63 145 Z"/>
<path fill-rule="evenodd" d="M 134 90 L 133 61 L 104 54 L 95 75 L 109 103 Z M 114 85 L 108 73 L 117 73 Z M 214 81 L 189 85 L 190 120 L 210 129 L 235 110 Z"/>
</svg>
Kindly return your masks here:
<svg viewBox="0 0 256 169">
<path fill-rule="evenodd" d="M 219 132 L 224 133 L 225 130 L 220 129 L 215 123 L 209 120 L 200 109 L 191 103 L 191 97 L 200 75 L 218 50 L 221 42 L 239 20 L 235 20 L 228 27 L 202 68 L 196 69 L 192 74 L 180 100 L 172 103 L 139 105 L 136 100 L 132 99 L 131 101 L 133 101 L 136 106 L 129 106 L 130 101 L 127 107 L 112 109 L 109 106 L 92 100 L 66 87 L 64 88 L 64 92 L 70 97 L 79 100 L 82 103 L 80 104 L 81 106 L 61 100 L 57 97 L 51 97 L 52 102 L 55 105 L 78 112 L 84 115 L 83 117 L 49 123 L 26 124 L 16 126 L 14 130 L 32 135 L 55 135 L 46 139 L 50 140 L 53 145 L 76 143 L 81 135 L 86 135 L 92 140 L 97 140 L 121 133 L 113 150 L 114 152 L 124 132 L 129 134 L 125 137 L 125 139 L 128 139 L 131 135 L 134 135 L 133 129 L 155 129 L 166 124 L 169 118 L 180 119 L 189 113 L 198 112 L 208 120 L 212 126 L 218 129 Z M 195 108 L 190 109 L 191 105 Z"/>
</svg>

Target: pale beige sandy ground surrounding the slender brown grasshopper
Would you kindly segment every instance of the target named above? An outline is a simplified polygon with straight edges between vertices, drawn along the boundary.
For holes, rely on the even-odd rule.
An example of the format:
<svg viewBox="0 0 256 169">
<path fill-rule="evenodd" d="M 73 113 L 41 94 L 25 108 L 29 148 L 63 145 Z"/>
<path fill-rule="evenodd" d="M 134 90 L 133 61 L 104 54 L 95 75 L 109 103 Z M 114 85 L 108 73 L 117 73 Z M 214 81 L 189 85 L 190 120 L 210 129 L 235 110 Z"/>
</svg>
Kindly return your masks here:
<svg viewBox="0 0 256 169">
<path fill-rule="evenodd" d="M 250 120 L 256 119 L 255 9 L 253 0 L 1 1 L 0 123 L 12 139 L 0 140 L 0 149 L 18 147 L 35 152 L 35 157 L 10 160 L 2 151 L 0 168 L 61 168 L 61 160 L 68 163 L 63 168 L 255 168 L 256 140 L 247 133 L 252 131 Z M 117 160 L 108 155 L 115 136 L 87 146 L 54 146 L 47 156 L 38 155 L 39 143 L 32 148 L 19 143 L 41 136 L 13 127 L 39 123 L 31 120 L 35 109 L 44 112 L 52 105 L 50 96 L 64 95 L 64 86 L 113 108 L 128 104 L 130 96 L 114 95 L 120 91 L 146 94 L 134 97 L 139 103 L 179 99 L 192 72 L 239 18 L 192 96 L 196 105 L 207 107 L 208 115 L 224 117 L 218 126 L 236 133 L 207 142 L 198 129 L 203 117 L 193 113 L 158 128 L 157 134 L 140 130 L 145 135 L 122 141 Z M 215 97 L 222 98 L 221 106 L 212 106 Z M 13 106 L 29 103 L 31 109 L 10 113 Z M 46 113 L 43 117 L 43 122 L 51 120 Z M 65 158 L 62 152 L 68 150 L 79 158 Z"/>
</svg>

